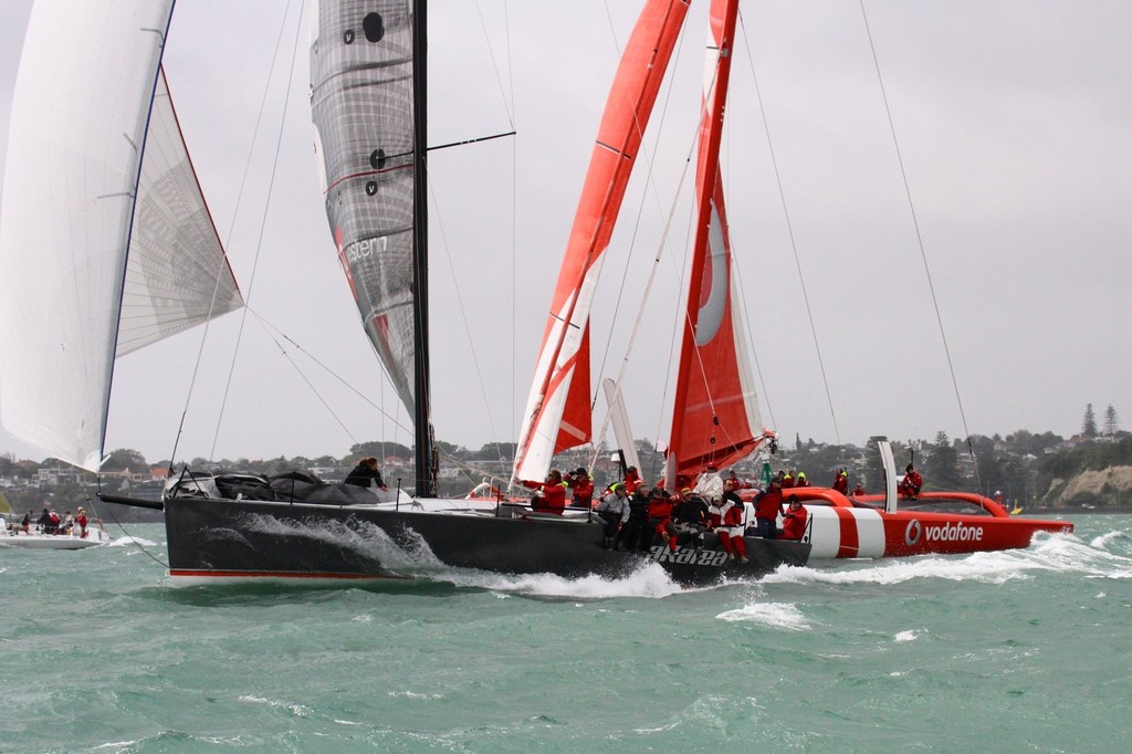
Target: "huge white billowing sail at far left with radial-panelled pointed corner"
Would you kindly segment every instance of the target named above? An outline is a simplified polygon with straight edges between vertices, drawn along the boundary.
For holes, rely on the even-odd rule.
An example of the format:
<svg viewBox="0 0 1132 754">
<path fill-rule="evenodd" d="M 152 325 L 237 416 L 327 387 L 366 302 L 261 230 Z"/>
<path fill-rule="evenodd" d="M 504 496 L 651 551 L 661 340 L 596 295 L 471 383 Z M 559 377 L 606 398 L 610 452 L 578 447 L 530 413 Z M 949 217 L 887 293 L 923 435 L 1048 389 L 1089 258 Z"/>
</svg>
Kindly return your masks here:
<svg viewBox="0 0 1132 754">
<path fill-rule="evenodd" d="M 0 207 L 0 419 L 89 470 L 102 460 L 123 288 L 138 325 L 123 327 L 132 333 L 125 351 L 175 332 L 185 311 L 199 314 L 186 289 L 211 302 L 217 274 L 230 276 L 223 260 L 205 265 L 208 273 L 186 262 L 190 247 L 215 254 L 220 245 L 195 178 L 191 187 L 185 178 L 191 166 L 175 119 L 155 118 L 179 152 L 147 169 L 139 188 L 171 12 L 172 0 L 40 0 L 12 98 Z M 131 224 L 139 240 L 126 285 Z M 166 245 L 171 235 L 177 246 Z M 185 283 L 182 273 L 209 283 Z M 232 306 L 230 284 L 222 288 Z"/>
</svg>

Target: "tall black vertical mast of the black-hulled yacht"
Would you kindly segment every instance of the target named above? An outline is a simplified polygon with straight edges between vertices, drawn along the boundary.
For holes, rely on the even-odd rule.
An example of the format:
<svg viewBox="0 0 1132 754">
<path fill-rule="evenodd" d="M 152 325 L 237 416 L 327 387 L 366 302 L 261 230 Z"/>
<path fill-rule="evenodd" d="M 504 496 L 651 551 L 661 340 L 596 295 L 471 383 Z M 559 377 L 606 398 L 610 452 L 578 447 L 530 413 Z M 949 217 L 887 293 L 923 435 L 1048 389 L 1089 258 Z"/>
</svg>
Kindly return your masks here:
<svg viewBox="0 0 1132 754">
<path fill-rule="evenodd" d="M 413 3 L 413 435 L 417 456 L 417 497 L 436 497 L 432 408 L 428 340 L 428 16 L 427 3 Z"/>
</svg>

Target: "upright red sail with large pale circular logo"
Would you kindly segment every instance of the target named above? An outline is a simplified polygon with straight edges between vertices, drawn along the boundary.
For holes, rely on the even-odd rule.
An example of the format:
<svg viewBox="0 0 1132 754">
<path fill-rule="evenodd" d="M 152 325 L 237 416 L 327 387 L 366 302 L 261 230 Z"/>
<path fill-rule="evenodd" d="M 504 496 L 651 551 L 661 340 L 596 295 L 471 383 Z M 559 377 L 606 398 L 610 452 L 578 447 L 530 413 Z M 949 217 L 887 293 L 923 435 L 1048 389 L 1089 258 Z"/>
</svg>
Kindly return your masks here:
<svg viewBox="0 0 1132 754">
<path fill-rule="evenodd" d="M 762 442 L 719 166 L 737 0 L 713 0 L 696 168 L 696 233 L 666 480 L 723 468 Z"/>
</svg>

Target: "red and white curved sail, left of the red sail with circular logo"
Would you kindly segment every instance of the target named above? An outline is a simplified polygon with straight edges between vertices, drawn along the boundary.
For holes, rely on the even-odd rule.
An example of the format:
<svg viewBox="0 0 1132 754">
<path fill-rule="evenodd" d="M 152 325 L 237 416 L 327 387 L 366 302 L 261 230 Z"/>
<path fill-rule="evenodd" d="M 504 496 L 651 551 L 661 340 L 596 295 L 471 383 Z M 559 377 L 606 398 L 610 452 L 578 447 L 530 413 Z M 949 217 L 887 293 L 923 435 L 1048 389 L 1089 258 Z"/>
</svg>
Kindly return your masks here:
<svg viewBox="0 0 1132 754">
<path fill-rule="evenodd" d="M 688 0 L 649 0 L 621 55 L 523 414 L 517 479 L 542 479 L 555 453 L 592 437 L 590 309 L 602 255 L 687 8 Z"/>
</svg>

